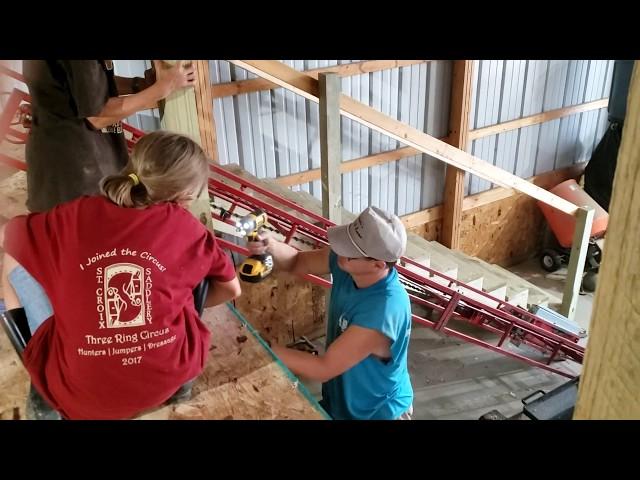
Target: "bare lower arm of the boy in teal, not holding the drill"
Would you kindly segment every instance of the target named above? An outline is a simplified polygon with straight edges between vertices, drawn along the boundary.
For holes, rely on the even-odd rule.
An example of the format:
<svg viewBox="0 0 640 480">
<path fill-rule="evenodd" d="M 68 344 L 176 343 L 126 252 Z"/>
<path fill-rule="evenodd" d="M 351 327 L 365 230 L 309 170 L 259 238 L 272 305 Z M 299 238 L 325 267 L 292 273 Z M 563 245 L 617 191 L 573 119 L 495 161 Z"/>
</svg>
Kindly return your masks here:
<svg viewBox="0 0 640 480">
<path fill-rule="evenodd" d="M 327 382 L 343 374 L 371 354 L 389 348 L 390 340 L 377 330 L 351 325 L 322 356 L 276 346 L 273 352 L 295 374 Z"/>
</svg>

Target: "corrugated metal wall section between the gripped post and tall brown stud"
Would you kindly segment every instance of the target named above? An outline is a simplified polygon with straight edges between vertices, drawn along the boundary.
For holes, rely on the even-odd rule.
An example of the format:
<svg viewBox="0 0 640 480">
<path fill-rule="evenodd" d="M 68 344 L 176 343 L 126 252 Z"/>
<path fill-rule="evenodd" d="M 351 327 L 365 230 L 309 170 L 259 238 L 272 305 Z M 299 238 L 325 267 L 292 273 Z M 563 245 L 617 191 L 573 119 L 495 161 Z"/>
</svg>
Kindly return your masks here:
<svg viewBox="0 0 640 480">
<path fill-rule="evenodd" d="M 357 60 L 286 60 L 308 70 Z M 256 78 L 224 60 L 210 62 L 212 83 Z M 343 77 L 342 92 L 400 121 L 435 136 L 447 133 L 451 63 L 430 62 Z M 318 105 L 278 88 L 214 100 L 220 163 L 235 163 L 263 177 L 279 177 L 320 167 Z M 342 119 L 342 159 L 394 150 L 395 140 Z M 424 158 L 423 158 L 424 157 Z M 342 176 L 345 208 L 368 205 L 398 215 L 442 202 L 444 164 L 415 156 Z M 294 189 L 320 198 L 320 181 Z"/>
</svg>

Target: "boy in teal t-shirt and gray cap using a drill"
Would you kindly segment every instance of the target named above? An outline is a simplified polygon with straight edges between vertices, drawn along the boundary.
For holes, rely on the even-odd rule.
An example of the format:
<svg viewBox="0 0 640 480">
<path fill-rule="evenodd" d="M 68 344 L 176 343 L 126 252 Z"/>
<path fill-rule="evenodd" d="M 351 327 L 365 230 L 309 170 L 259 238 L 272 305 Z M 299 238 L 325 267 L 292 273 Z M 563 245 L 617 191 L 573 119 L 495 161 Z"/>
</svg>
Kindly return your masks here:
<svg viewBox="0 0 640 480">
<path fill-rule="evenodd" d="M 334 419 L 410 418 L 411 307 L 394 267 L 407 244 L 404 225 L 369 207 L 327 233 L 330 248 L 305 252 L 273 238 L 247 244 L 251 254 L 271 253 L 280 270 L 333 276 L 326 353 L 273 351 L 296 375 L 323 382 L 322 404 Z"/>
</svg>

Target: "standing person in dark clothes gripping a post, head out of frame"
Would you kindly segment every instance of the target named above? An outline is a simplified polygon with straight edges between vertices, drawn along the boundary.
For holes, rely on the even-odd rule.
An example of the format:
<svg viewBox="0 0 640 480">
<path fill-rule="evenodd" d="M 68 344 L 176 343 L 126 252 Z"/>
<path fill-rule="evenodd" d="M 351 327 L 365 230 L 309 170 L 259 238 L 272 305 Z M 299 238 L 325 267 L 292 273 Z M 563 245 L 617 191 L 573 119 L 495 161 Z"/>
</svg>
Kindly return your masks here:
<svg viewBox="0 0 640 480">
<path fill-rule="evenodd" d="M 99 193 L 100 179 L 127 163 L 120 121 L 195 82 L 192 65 L 154 63 L 155 81 L 115 77 L 111 60 L 23 62 L 32 100 L 25 152 L 31 212 Z"/>
</svg>

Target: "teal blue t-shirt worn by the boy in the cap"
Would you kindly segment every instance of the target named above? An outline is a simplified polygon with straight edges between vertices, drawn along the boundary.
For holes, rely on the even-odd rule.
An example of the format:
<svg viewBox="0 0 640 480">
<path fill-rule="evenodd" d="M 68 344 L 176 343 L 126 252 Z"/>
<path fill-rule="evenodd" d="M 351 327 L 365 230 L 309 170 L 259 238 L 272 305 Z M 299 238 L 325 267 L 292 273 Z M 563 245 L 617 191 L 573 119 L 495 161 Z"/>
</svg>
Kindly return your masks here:
<svg viewBox="0 0 640 480">
<path fill-rule="evenodd" d="M 333 276 L 327 349 L 350 325 L 371 328 L 391 340 L 391 358 L 369 355 L 342 375 L 322 385 L 322 404 L 336 420 L 392 420 L 413 402 L 407 370 L 411 335 L 409 296 L 391 269 L 386 278 L 367 288 L 358 288 L 351 275 L 329 255 Z"/>
</svg>

